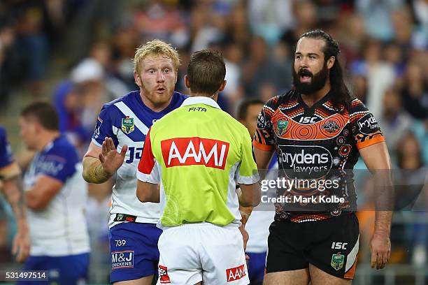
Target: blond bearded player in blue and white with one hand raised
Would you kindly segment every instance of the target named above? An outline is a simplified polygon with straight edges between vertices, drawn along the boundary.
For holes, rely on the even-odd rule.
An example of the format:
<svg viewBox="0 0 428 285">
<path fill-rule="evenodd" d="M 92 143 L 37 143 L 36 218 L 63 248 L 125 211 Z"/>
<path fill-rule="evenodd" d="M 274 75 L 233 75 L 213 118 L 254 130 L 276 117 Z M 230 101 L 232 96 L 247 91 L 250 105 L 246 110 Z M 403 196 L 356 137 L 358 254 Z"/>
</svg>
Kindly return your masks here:
<svg viewBox="0 0 428 285">
<path fill-rule="evenodd" d="M 179 64 L 178 52 L 163 41 L 139 47 L 134 57 L 139 90 L 104 105 L 83 158 L 87 182 L 103 183 L 116 174 L 108 224 L 110 282 L 151 284 L 157 272 L 159 205 L 136 199 L 136 169 L 150 126 L 186 98 L 174 92 Z"/>
</svg>

